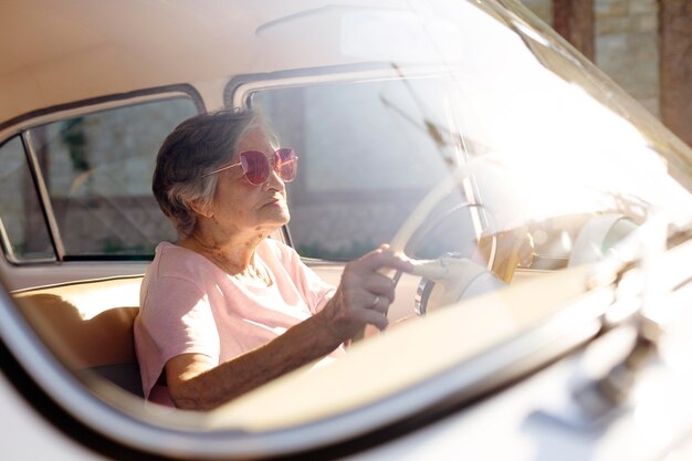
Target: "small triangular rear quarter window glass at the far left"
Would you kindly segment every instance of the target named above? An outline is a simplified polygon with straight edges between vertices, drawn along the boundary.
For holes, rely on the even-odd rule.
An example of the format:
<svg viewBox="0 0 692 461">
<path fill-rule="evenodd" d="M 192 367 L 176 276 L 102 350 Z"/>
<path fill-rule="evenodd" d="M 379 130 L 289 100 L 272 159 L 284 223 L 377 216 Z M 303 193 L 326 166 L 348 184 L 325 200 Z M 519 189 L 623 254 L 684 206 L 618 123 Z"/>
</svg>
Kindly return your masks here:
<svg viewBox="0 0 692 461">
<path fill-rule="evenodd" d="M 0 147 L 0 237 L 10 261 L 54 259 L 45 219 L 19 136 Z"/>
</svg>

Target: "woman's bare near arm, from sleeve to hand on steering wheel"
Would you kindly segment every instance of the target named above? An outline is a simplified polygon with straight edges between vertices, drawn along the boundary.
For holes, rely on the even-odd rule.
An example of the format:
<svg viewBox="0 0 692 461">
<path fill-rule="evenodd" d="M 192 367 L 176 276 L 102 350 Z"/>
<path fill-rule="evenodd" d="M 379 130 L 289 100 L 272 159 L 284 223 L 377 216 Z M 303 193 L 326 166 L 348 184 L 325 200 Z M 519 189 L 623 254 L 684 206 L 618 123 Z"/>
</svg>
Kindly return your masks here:
<svg viewBox="0 0 692 461">
<path fill-rule="evenodd" d="M 411 269 L 403 256 L 380 248 L 346 265 L 334 297 L 319 313 L 265 345 L 218 366 L 201 354 L 171 358 L 166 364 L 171 399 L 181 409 L 210 410 L 328 355 L 366 324 L 385 328 L 395 286 L 378 272 L 382 268 Z"/>
</svg>

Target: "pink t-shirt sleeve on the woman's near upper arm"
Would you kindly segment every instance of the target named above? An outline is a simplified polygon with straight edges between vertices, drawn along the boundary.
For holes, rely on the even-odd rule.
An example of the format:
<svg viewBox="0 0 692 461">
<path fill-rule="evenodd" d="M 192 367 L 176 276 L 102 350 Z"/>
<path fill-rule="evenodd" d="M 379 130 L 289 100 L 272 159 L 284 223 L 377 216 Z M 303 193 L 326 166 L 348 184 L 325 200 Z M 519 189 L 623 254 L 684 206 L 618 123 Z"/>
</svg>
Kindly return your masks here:
<svg viewBox="0 0 692 461">
<path fill-rule="evenodd" d="M 150 284 L 138 323 L 137 354 L 145 395 L 177 355 L 219 359 L 219 333 L 209 300 L 188 280 L 164 276 Z"/>
</svg>

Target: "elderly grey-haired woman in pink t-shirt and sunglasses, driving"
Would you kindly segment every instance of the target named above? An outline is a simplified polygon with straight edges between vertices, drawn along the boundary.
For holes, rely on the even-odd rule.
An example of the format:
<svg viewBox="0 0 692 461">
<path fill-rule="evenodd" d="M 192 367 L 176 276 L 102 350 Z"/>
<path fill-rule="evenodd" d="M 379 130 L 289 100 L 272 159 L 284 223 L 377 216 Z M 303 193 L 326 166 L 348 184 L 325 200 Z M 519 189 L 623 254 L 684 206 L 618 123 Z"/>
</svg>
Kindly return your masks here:
<svg viewBox="0 0 692 461">
<path fill-rule="evenodd" d="M 387 326 L 409 271 L 387 247 L 346 265 L 338 289 L 269 235 L 289 222 L 297 156 L 253 112 L 181 123 L 161 146 L 154 193 L 179 241 L 161 242 L 141 285 L 135 343 L 145 397 L 208 410 Z"/>
</svg>

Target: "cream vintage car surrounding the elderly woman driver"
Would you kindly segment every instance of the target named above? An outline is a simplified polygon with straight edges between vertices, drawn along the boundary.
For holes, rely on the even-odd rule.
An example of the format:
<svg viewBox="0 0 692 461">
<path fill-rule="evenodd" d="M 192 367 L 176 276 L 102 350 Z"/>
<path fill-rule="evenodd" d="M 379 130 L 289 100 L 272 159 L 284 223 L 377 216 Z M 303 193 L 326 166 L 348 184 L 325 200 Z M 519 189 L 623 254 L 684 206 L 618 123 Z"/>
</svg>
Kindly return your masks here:
<svg viewBox="0 0 692 461">
<path fill-rule="evenodd" d="M 692 150 L 513 0 L 0 3 L 0 458 L 692 455 Z M 187 117 L 300 156 L 272 238 L 384 333 L 210 412 L 145 402 L 151 193 Z M 406 322 L 397 322 L 407 318 Z"/>
</svg>

